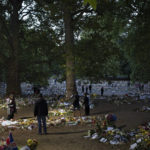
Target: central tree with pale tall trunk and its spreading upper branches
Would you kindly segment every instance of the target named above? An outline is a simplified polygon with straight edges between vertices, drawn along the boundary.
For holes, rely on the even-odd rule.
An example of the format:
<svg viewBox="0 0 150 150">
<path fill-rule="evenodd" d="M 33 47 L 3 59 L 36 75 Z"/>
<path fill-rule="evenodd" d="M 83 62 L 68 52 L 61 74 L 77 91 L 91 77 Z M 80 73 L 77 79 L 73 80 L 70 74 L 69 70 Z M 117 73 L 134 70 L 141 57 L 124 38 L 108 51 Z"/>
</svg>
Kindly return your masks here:
<svg viewBox="0 0 150 150">
<path fill-rule="evenodd" d="M 49 22 L 54 24 L 56 32 L 61 33 L 66 58 L 66 98 L 69 99 L 77 92 L 74 58 L 76 33 L 80 31 L 79 24 L 87 16 L 84 13 L 91 12 L 91 8 L 89 5 L 83 5 L 83 1 L 78 0 L 45 0 L 38 1 L 38 3 L 45 11 L 49 12 Z"/>
</svg>

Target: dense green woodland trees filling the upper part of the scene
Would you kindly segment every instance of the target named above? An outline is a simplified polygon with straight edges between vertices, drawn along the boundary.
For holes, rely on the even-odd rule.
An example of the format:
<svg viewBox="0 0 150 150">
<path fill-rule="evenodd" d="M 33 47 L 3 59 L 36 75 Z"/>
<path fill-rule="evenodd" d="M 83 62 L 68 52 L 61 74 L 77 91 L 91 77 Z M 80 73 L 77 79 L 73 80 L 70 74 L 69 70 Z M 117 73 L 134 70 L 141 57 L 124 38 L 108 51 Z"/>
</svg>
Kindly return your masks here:
<svg viewBox="0 0 150 150">
<path fill-rule="evenodd" d="M 149 23 L 149 0 L 0 0 L 0 81 L 20 95 L 57 76 L 67 98 L 78 78 L 147 82 Z"/>
</svg>

